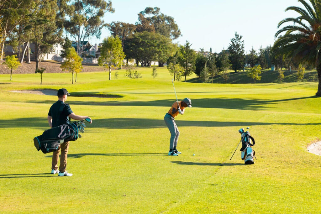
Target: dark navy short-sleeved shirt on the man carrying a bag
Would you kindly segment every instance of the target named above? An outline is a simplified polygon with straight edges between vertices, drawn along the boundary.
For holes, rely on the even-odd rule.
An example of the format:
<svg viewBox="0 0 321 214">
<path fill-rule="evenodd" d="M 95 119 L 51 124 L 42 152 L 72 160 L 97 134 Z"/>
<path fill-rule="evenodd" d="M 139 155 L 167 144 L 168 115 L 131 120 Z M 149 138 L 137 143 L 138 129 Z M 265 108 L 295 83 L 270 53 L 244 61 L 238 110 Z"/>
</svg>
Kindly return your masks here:
<svg viewBox="0 0 321 214">
<path fill-rule="evenodd" d="M 69 124 L 69 116 L 73 111 L 69 104 L 58 100 L 49 109 L 48 116 L 52 117 L 52 127 Z"/>
</svg>

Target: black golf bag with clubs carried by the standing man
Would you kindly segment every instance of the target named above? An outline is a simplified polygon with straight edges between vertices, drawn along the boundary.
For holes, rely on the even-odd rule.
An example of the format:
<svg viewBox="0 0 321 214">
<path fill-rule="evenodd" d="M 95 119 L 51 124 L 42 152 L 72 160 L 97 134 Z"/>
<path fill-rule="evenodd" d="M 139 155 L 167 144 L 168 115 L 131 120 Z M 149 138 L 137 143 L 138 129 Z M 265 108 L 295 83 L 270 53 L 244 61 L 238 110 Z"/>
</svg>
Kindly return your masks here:
<svg viewBox="0 0 321 214">
<path fill-rule="evenodd" d="M 33 142 L 36 149 L 44 154 L 54 152 L 58 150 L 61 143 L 75 141 L 78 136 L 81 137 L 79 131 L 83 133 L 85 127 L 83 121 L 60 125 L 44 131 L 42 135 L 35 137 Z"/>
</svg>

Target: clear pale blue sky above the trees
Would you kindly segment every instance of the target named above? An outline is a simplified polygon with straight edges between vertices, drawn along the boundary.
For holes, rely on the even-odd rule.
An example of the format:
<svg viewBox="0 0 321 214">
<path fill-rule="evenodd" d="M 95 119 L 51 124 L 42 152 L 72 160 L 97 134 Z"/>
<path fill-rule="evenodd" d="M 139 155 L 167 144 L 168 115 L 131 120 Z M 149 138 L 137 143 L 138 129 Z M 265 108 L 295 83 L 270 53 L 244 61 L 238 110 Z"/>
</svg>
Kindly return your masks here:
<svg viewBox="0 0 321 214">
<path fill-rule="evenodd" d="M 243 36 L 245 51 L 253 47 L 273 45 L 277 24 L 284 18 L 297 17 L 293 11 L 284 12 L 289 6 L 300 6 L 297 0 L 111 0 L 115 13 L 106 13 L 104 21 L 123 21 L 135 24 L 138 13 L 146 7 L 159 7 L 160 13 L 172 16 L 182 36 L 174 42 L 184 45 L 186 40 L 192 48 L 204 48 L 213 52 L 227 49 L 234 32 Z M 101 38 L 89 39 L 100 43 L 110 36 L 103 29 Z"/>
</svg>

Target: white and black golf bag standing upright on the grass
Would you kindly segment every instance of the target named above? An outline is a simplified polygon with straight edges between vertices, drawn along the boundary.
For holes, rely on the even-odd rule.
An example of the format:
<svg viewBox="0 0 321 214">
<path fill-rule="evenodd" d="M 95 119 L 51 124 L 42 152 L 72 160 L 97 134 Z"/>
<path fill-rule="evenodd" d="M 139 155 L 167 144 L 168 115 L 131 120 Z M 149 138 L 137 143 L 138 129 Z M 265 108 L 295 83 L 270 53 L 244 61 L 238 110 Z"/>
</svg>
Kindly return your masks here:
<svg viewBox="0 0 321 214">
<path fill-rule="evenodd" d="M 239 129 L 239 133 L 242 142 L 241 158 L 244 160 L 244 164 L 254 164 L 255 151 L 252 146 L 254 146 L 255 140 L 248 131 L 244 132 L 244 128 Z"/>
</svg>

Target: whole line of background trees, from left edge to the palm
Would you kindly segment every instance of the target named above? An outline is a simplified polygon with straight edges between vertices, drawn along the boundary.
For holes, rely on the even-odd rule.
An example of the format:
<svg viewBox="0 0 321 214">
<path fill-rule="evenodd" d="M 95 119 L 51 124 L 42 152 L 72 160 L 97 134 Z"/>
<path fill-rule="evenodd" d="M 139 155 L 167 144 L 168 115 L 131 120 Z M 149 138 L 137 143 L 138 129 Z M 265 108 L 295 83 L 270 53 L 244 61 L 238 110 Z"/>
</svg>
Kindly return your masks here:
<svg viewBox="0 0 321 214">
<path fill-rule="evenodd" d="M 16 47 L 20 63 L 25 56 L 30 62 L 32 42 L 35 45 L 37 72 L 42 54 L 48 53 L 53 44 L 65 44 L 65 50 L 70 47 L 69 39 L 64 40 L 62 36 L 64 32 L 76 41 L 76 52 L 81 56 L 84 47 L 82 42 L 92 37 L 100 38 L 102 28 L 107 27 L 112 37 L 120 40 L 120 58 L 135 59 L 137 65 L 140 63 L 141 66 L 150 66 L 152 61 L 157 61 L 159 66 L 167 63 L 176 79 L 184 77 L 186 81 L 187 76 L 195 72 L 204 82 L 210 76 L 213 81 L 218 73 L 227 81 L 229 69 L 244 71 L 246 65 L 266 68 L 274 64 L 278 70 L 290 66 L 307 69 L 317 67 L 317 95 L 321 95 L 321 63 L 318 57 L 321 46 L 321 1 L 300 2 L 306 11 L 299 7 L 287 8 L 298 12 L 300 16 L 280 21 L 279 27 L 289 21 L 294 24 L 277 31 L 275 37 L 278 39 L 273 47 L 260 47 L 258 51 L 252 47 L 245 54 L 244 40 L 235 32 L 228 48 L 217 54 L 212 53 L 211 48 L 207 53 L 204 48 L 196 52 L 188 41 L 184 45 L 174 43 L 181 36 L 181 31 L 174 18 L 161 13 L 158 7 L 146 7 L 138 13 L 135 24 L 119 21 L 105 23 L 104 15 L 115 12 L 110 0 L 3 0 L 0 2 L 0 60 L 3 60 L 4 43 L 8 42 Z M 102 48 L 102 51 L 105 49 Z M 67 56 L 66 53 L 63 55 Z M 100 64 L 108 65 L 106 59 Z M 117 66 L 121 67 L 119 64 Z M 252 69 L 255 70 L 259 69 Z M 298 78 L 301 78 L 301 74 Z"/>
</svg>

